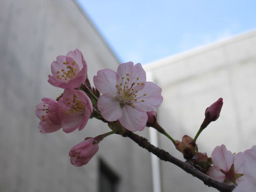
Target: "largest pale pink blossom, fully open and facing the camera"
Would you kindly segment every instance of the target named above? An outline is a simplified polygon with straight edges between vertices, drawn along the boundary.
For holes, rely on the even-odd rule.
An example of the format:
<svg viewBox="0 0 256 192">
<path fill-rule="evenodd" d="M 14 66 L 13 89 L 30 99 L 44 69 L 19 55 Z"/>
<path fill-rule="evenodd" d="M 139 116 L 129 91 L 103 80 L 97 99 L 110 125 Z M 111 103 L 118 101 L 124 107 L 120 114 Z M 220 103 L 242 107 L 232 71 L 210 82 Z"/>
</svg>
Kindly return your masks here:
<svg viewBox="0 0 256 192">
<path fill-rule="evenodd" d="M 162 89 L 146 82 L 146 73 L 140 63 L 123 63 L 117 72 L 99 70 L 94 85 L 102 93 L 98 109 L 104 119 L 116 121 L 130 131 L 141 131 L 148 120 L 146 112 L 156 109 L 163 101 Z"/>
</svg>

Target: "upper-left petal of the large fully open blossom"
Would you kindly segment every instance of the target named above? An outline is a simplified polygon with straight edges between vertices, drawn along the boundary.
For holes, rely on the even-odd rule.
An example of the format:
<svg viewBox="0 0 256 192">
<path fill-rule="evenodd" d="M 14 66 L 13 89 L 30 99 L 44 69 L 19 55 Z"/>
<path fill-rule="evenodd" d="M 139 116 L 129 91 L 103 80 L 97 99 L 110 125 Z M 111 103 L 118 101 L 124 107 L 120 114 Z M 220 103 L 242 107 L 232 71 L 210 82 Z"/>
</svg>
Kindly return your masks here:
<svg viewBox="0 0 256 192">
<path fill-rule="evenodd" d="M 99 70 L 97 76 L 93 77 L 93 82 L 102 94 L 110 93 L 112 96 L 117 95 L 116 79 L 119 78 L 118 74 L 111 69 Z"/>
</svg>

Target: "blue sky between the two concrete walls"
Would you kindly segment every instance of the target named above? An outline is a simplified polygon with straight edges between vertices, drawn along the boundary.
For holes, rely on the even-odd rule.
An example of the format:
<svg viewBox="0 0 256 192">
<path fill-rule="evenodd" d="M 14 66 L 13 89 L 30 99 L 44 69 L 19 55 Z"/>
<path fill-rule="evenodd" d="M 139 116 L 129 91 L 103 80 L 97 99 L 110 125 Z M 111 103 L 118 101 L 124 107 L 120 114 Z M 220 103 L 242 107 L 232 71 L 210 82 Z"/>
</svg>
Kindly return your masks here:
<svg viewBox="0 0 256 192">
<path fill-rule="evenodd" d="M 121 62 L 146 64 L 256 29 L 256 0 L 77 0 Z"/>
</svg>

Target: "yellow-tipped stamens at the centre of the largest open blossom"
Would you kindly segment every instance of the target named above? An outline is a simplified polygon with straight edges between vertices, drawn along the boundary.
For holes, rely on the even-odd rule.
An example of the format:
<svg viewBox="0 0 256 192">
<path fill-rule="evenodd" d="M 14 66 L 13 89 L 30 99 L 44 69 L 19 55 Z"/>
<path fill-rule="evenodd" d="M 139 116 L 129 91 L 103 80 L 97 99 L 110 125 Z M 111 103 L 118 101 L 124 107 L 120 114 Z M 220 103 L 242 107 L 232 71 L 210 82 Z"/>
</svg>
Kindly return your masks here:
<svg viewBox="0 0 256 192">
<path fill-rule="evenodd" d="M 116 96 L 115 99 L 120 102 L 121 108 L 123 108 L 125 105 L 132 106 L 134 108 L 133 103 L 145 102 L 145 100 L 140 100 L 140 98 L 147 95 L 143 94 L 140 97 L 137 96 L 138 90 L 134 89 L 135 86 L 139 84 L 144 86 L 144 83 L 137 82 L 139 77 L 136 78 L 135 82 L 130 83 L 129 75 L 130 74 L 127 73 L 126 77 L 122 77 L 122 82 L 119 85 L 116 84 L 116 93 L 118 96 Z"/>
</svg>

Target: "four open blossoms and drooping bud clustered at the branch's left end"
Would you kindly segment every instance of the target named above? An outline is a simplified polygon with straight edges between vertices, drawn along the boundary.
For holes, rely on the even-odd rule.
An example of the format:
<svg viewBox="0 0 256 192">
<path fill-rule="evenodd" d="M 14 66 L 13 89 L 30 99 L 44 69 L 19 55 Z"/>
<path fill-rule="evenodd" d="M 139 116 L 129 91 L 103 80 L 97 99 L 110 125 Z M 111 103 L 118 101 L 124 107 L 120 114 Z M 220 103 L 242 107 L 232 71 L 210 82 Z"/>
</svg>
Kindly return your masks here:
<svg viewBox="0 0 256 192">
<path fill-rule="evenodd" d="M 93 111 L 104 121 L 120 123 L 130 131 L 141 131 L 148 120 L 154 121 L 154 110 L 163 101 L 162 89 L 153 82 L 146 82 L 146 73 L 140 63 L 120 64 L 117 72 L 99 70 L 93 79 L 95 88 L 90 87 L 87 64 L 78 49 L 58 56 L 51 70 L 48 82 L 64 91 L 57 100 L 43 98 L 36 106 L 41 133 L 60 128 L 66 133 L 82 130 L 89 118 L 94 117 Z M 95 90 L 102 95 L 97 98 Z M 93 104 L 93 98 L 98 102 Z M 86 138 L 74 146 L 69 153 L 70 162 L 75 166 L 87 164 L 98 151 L 102 138 Z"/>
</svg>

